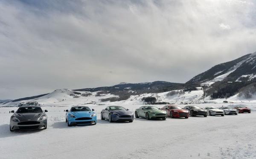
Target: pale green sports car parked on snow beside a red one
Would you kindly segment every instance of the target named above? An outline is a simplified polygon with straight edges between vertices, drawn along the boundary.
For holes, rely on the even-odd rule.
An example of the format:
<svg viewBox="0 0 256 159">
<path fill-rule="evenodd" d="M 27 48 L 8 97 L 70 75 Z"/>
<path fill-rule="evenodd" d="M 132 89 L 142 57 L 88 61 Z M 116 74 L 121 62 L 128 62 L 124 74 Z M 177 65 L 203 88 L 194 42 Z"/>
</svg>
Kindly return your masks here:
<svg viewBox="0 0 256 159">
<path fill-rule="evenodd" d="M 166 117 L 166 111 L 160 110 L 157 107 L 154 106 L 142 106 L 135 110 L 135 117 L 140 118 L 143 117 L 147 120 L 149 119 L 163 119 L 165 120 Z"/>
</svg>

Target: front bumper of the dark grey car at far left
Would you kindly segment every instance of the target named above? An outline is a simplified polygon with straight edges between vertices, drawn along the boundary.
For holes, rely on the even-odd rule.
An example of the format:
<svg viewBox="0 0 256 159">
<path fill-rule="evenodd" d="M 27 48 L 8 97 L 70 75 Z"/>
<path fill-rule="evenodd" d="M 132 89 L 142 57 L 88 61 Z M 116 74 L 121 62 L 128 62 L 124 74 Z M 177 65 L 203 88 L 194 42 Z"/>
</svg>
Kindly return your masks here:
<svg viewBox="0 0 256 159">
<path fill-rule="evenodd" d="M 33 121 L 31 121 L 33 122 Z M 37 121 L 34 121 L 37 122 Z M 10 122 L 11 130 L 38 130 L 47 128 L 47 120 L 38 121 L 38 124 L 22 124 L 22 122 Z"/>
</svg>

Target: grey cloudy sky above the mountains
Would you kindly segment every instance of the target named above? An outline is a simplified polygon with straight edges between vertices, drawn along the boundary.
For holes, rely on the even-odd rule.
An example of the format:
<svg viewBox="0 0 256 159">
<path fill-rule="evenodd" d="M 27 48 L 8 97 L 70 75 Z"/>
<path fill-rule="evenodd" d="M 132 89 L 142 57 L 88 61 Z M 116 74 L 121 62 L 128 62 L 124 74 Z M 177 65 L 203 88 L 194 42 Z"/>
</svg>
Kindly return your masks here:
<svg viewBox="0 0 256 159">
<path fill-rule="evenodd" d="M 0 1 L 0 99 L 183 83 L 253 52 L 254 0 Z"/>
</svg>

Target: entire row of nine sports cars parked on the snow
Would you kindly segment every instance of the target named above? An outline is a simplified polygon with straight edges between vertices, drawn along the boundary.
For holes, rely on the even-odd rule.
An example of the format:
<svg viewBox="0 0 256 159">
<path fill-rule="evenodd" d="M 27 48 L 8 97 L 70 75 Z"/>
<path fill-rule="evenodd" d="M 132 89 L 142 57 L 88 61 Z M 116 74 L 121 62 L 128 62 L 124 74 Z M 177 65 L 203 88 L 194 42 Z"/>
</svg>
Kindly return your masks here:
<svg viewBox="0 0 256 159">
<path fill-rule="evenodd" d="M 97 124 L 97 114 L 94 110 L 86 106 L 71 107 L 66 111 L 67 126 L 73 125 L 87 125 Z M 34 129 L 47 129 L 47 110 L 42 110 L 37 106 L 23 106 L 19 107 L 10 119 L 10 131 L 15 130 L 34 130 Z M 108 119 L 109 122 L 113 121 L 134 121 L 135 118 L 149 119 L 163 119 L 169 116 L 171 118 L 189 118 L 190 116 L 224 116 L 227 114 L 250 113 L 250 108 L 245 106 L 231 107 L 205 107 L 204 109 L 198 106 L 179 107 L 176 105 L 166 105 L 162 108 L 155 106 L 142 106 L 131 112 L 121 106 L 109 106 L 101 111 L 101 119 Z"/>
</svg>

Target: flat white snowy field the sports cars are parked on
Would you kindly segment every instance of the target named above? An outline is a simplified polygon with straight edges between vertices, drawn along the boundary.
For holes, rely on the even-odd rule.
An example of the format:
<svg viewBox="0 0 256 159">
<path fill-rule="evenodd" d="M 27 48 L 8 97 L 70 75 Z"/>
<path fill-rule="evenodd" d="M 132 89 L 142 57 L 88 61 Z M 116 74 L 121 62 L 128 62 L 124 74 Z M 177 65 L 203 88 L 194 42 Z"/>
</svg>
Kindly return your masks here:
<svg viewBox="0 0 256 159">
<path fill-rule="evenodd" d="M 0 107 L 0 159 L 256 159 L 256 104 L 248 104 L 252 113 L 237 116 L 132 123 L 102 121 L 107 105 L 88 106 L 98 113 L 96 125 L 67 127 L 68 107 L 43 107 L 47 130 L 20 132 L 9 131 L 9 111 L 17 108 Z"/>
</svg>

